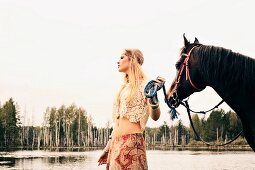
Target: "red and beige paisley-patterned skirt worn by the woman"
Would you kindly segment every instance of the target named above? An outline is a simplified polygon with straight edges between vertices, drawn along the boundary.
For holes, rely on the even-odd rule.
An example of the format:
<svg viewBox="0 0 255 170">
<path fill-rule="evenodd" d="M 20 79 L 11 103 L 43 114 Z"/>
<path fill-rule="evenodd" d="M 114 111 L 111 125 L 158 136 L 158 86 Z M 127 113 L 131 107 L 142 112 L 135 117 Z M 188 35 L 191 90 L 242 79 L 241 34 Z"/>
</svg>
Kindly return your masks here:
<svg viewBox="0 0 255 170">
<path fill-rule="evenodd" d="M 107 170 L 147 170 L 143 134 L 134 133 L 115 138 L 109 149 Z"/>
</svg>

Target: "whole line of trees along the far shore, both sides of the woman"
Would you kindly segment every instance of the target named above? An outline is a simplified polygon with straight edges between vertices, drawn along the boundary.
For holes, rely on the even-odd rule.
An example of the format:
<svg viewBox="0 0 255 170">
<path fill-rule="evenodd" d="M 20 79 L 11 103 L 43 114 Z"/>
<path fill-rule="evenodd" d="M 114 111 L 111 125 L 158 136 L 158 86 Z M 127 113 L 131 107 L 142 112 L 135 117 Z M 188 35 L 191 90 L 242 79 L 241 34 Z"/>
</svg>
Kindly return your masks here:
<svg viewBox="0 0 255 170">
<path fill-rule="evenodd" d="M 192 121 L 197 132 L 209 142 L 229 140 L 242 130 L 238 116 L 222 109 L 212 111 L 207 119 L 194 114 Z M 23 125 L 18 105 L 12 98 L 0 106 L 1 148 L 104 146 L 111 131 L 110 122 L 103 128 L 96 127 L 87 111 L 75 104 L 46 108 L 41 126 Z M 144 136 L 147 145 L 151 146 L 188 145 L 199 140 L 192 128 L 184 126 L 181 120 L 171 126 L 164 122 L 160 127 L 146 127 Z"/>
</svg>

